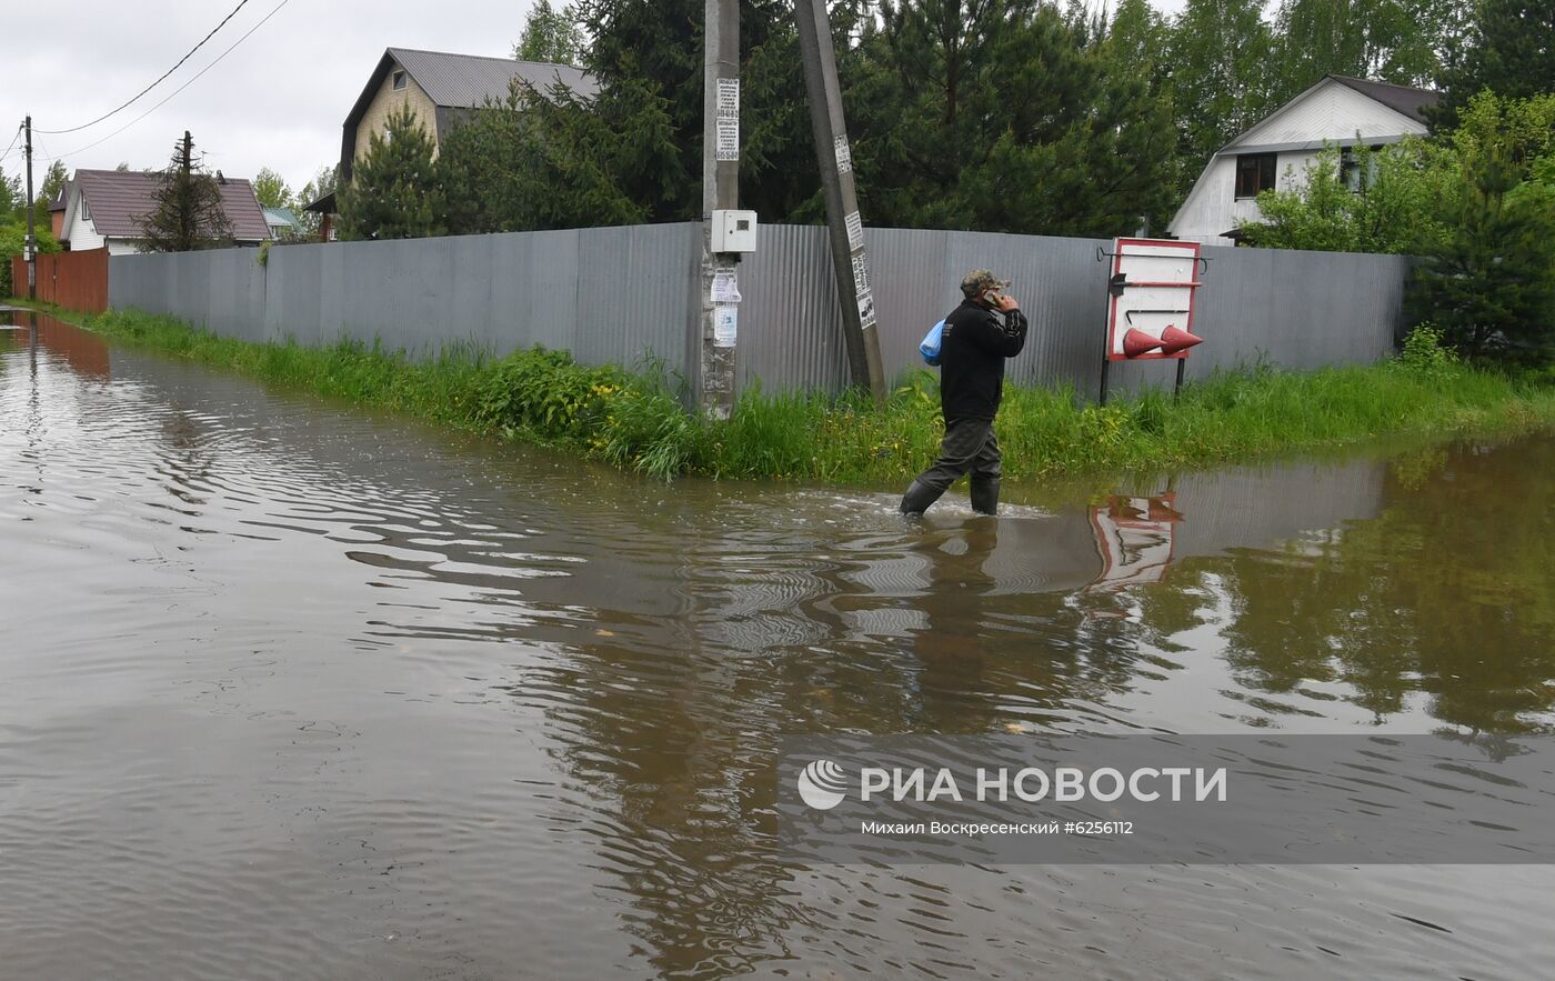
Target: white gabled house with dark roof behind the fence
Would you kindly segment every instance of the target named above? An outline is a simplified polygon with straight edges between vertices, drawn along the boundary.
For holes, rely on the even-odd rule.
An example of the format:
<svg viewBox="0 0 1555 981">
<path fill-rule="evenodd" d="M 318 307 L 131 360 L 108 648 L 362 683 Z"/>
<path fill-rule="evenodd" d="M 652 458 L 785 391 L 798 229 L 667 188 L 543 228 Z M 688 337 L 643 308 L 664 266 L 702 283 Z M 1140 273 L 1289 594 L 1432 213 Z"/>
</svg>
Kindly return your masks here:
<svg viewBox="0 0 1555 981">
<path fill-rule="evenodd" d="M 1359 134 L 1364 146 L 1376 148 L 1423 135 L 1424 110 L 1435 103 L 1429 89 L 1323 76 L 1221 148 L 1168 232 L 1207 246 L 1232 246 L 1239 222 L 1263 218 L 1253 201 L 1258 191 L 1292 188 L 1325 143 L 1348 149 Z"/>
</svg>

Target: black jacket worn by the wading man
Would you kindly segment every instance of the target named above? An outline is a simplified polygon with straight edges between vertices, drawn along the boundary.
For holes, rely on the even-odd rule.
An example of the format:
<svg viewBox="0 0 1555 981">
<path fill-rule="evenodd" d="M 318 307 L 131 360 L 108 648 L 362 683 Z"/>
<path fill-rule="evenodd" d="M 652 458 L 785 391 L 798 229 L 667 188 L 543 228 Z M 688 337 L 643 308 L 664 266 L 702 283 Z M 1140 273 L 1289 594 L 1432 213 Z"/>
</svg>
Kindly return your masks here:
<svg viewBox="0 0 1555 981">
<path fill-rule="evenodd" d="M 1012 309 L 998 322 L 972 300 L 945 317 L 939 361 L 939 406 L 945 424 L 992 420 L 1005 393 L 1005 359 L 1026 347 L 1026 314 Z"/>
</svg>

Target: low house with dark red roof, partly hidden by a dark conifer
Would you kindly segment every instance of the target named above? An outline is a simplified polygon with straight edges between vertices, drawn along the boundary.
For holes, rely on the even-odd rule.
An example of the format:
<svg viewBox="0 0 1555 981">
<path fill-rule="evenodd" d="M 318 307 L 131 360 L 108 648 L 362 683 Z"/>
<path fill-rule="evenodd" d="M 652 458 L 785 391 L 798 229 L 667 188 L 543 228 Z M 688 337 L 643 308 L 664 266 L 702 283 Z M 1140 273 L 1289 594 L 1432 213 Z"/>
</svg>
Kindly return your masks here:
<svg viewBox="0 0 1555 981">
<path fill-rule="evenodd" d="M 142 219 L 156 210 L 162 174 L 140 171 L 76 169 L 70 179 L 61 227 L 72 252 L 107 249 L 109 255 L 140 252 Z M 221 207 L 232 225 L 233 243 L 258 246 L 271 238 L 264 210 L 247 180 L 216 176 Z"/>
</svg>

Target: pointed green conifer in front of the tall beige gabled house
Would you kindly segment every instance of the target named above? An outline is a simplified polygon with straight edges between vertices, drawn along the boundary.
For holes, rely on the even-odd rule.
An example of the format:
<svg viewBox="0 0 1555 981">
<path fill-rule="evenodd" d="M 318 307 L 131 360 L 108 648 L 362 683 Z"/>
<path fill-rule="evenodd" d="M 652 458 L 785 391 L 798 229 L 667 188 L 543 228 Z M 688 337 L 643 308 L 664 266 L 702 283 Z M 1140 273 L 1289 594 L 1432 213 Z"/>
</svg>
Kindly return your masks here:
<svg viewBox="0 0 1555 981">
<path fill-rule="evenodd" d="M 409 106 L 389 113 L 383 134 L 341 187 L 341 238 L 425 238 L 442 235 L 443 193 L 432 166 L 432 138 Z"/>
</svg>

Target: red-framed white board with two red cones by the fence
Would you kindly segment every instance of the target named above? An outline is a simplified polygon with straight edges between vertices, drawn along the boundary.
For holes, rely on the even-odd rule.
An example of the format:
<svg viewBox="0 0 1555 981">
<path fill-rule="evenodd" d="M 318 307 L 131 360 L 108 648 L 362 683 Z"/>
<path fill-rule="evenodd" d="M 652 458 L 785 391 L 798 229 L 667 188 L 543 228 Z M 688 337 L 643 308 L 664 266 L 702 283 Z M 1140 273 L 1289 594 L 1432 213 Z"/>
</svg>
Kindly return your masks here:
<svg viewBox="0 0 1555 981">
<path fill-rule="evenodd" d="M 1109 361 L 1188 358 L 1200 340 L 1193 333 L 1199 266 L 1199 243 L 1113 239 L 1107 295 Z"/>
</svg>

